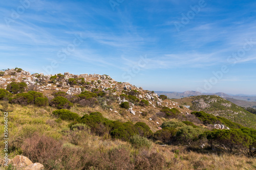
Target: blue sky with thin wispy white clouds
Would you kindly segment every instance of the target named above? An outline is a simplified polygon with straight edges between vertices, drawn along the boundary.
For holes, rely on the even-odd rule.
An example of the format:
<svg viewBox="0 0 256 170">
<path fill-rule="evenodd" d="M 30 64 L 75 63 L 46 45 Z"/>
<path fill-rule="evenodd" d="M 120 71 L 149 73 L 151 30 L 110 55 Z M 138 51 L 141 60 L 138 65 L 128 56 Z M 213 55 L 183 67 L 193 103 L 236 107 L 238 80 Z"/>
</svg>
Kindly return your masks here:
<svg viewBox="0 0 256 170">
<path fill-rule="evenodd" d="M 22 0 L 0 11 L 1 69 L 256 94 L 255 1 Z"/>
</svg>

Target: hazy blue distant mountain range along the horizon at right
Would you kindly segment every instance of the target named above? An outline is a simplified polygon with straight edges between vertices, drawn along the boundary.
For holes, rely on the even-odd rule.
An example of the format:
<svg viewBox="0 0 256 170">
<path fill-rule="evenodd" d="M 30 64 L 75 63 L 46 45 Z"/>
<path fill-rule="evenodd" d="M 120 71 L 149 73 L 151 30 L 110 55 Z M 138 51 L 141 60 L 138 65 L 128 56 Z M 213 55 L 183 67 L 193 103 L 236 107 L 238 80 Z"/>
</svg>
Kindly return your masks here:
<svg viewBox="0 0 256 170">
<path fill-rule="evenodd" d="M 256 108 L 256 95 L 247 94 L 226 94 L 223 92 L 218 93 L 202 93 L 199 91 L 184 91 L 184 92 L 167 92 L 167 91 L 156 91 L 158 95 L 166 95 L 169 99 L 181 99 L 189 96 L 197 95 L 219 95 L 238 106 L 241 107 L 254 107 Z"/>
</svg>

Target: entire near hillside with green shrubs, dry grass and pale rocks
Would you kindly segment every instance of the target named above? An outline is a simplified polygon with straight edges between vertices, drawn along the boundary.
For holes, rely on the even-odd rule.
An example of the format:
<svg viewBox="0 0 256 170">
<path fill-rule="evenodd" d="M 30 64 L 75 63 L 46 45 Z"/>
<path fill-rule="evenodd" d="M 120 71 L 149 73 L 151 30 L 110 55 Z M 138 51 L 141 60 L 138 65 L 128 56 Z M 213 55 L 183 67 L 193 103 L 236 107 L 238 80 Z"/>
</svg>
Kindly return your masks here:
<svg viewBox="0 0 256 170">
<path fill-rule="evenodd" d="M 45 169 L 254 169 L 256 130 L 196 109 L 107 75 L 0 72 L 9 158 Z"/>
</svg>

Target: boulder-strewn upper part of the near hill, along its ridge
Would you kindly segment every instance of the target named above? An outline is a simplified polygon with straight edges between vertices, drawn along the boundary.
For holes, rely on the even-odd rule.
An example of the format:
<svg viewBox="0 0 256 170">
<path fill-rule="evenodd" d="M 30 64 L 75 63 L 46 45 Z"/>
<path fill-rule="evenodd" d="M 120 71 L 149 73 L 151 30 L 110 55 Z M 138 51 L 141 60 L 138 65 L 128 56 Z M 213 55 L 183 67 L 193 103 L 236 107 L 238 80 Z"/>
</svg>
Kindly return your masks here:
<svg viewBox="0 0 256 170">
<path fill-rule="evenodd" d="M 2 73 L 1 73 L 2 72 Z M 181 109 L 178 103 L 170 100 L 159 98 L 158 94 L 153 91 L 143 90 L 142 87 L 136 87 L 127 82 L 117 82 L 108 75 L 91 75 L 81 74 L 73 75 L 69 72 L 64 74 L 44 75 L 44 74 L 30 74 L 30 72 L 20 68 L 9 69 L 1 71 L 0 88 L 7 88 L 7 85 L 12 82 L 24 82 L 29 90 L 34 90 L 43 93 L 47 98 L 52 100 L 53 94 L 56 92 L 65 92 L 67 98 L 78 95 L 82 91 L 101 91 L 103 93 L 113 96 L 115 99 L 107 99 L 107 101 L 98 101 L 99 105 L 103 105 L 105 109 L 109 109 L 110 115 L 116 119 L 133 120 L 136 118 L 142 119 L 141 114 L 147 112 L 147 116 L 143 116 L 144 121 L 151 124 L 153 130 L 157 130 L 159 124 L 164 119 L 158 118 L 155 115 L 163 106 L 170 109 L 177 108 L 182 114 L 190 113 L 191 110 L 187 108 Z M 120 95 L 123 96 L 120 97 Z M 128 98 L 129 95 L 136 96 L 134 100 Z M 138 101 L 148 101 L 148 106 L 142 106 Z M 115 101 L 112 103 L 112 101 Z M 120 109 L 119 104 L 129 102 L 130 108 L 126 112 L 130 112 L 127 116 L 124 115 L 123 110 Z M 110 116 L 106 115 L 106 116 Z M 126 115 L 126 113 L 125 113 Z M 154 126 L 153 126 L 154 125 Z"/>
</svg>

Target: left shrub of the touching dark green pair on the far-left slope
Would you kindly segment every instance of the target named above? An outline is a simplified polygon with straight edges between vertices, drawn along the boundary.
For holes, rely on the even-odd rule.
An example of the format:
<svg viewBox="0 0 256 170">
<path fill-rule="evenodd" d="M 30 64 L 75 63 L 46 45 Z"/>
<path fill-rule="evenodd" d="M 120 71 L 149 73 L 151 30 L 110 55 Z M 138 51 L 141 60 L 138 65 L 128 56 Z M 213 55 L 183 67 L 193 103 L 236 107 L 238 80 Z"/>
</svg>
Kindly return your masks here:
<svg viewBox="0 0 256 170">
<path fill-rule="evenodd" d="M 9 101 L 19 105 L 29 105 L 34 103 L 34 96 L 30 93 L 19 93 L 14 98 L 10 98 Z"/>
</svg>

